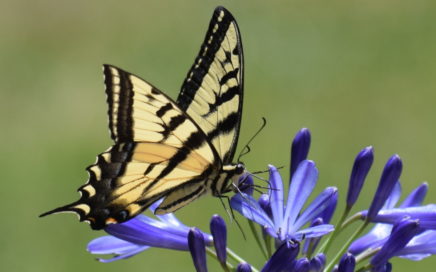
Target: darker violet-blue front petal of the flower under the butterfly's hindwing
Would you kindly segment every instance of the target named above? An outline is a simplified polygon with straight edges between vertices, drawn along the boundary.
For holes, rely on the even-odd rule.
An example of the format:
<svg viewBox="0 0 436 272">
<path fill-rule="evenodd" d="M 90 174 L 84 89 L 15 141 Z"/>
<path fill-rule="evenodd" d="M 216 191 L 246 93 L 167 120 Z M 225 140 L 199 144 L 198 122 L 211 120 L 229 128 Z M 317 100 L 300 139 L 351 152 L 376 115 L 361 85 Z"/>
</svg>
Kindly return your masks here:
<svg viewBox="0 0 436 272">
<path fill-rule="evenodd" d="M 105 231 L 119 239 L 137 245 L 188 250 L 188 233 L 178 235 L 168 232 L 168 228 L 169 226 L 166 226 L 166 229 L 161 229 L 135 217 L 121 224 L 109 225 Z"/>
</svg>

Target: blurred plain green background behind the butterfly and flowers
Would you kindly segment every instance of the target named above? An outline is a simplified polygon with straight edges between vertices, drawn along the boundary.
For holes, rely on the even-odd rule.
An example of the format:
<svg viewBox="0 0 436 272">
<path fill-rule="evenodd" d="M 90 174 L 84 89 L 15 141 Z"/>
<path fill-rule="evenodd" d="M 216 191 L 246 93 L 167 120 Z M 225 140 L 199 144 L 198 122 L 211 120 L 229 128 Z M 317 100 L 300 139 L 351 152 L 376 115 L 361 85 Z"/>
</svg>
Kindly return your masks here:
<svg viewBox="0 0 436 272">
<path fill-rule="evenodd" d="M 101 65 L 120 66 L 176 97 L 217 5 L 234 14 L 244 44 L 239 147 L 262 116 L 268 120 L 244 158 L 249 170 L 287 166 L 291 139 L 308 127 L 317 192 L 338 186 L 340 208 L 354 156 L 367 145 L 375 162 L 359 208 L 394 153 L 404 162 L 404 191 L 427 180 L 426 202 L 436 202 L 434 1 L 2 0 L 1 271 L 193 270 L 188 253 L 161 249 L 98 263 L 85 246 L 102 232 L 72 215 L 37 216 L 76 200 L 84 168 L 111 143 Z M 288 169 L 282 173 L 287 179 Z M 207 230 L 214 213 L 225 216 L 206 197 L 177 215 Z M 251 235 L 244 240 L 234 223 L 229 232 L 229 246 L 261 267 Z M 436 257 L 394 265 L 430 271 Z"/>
</svg>

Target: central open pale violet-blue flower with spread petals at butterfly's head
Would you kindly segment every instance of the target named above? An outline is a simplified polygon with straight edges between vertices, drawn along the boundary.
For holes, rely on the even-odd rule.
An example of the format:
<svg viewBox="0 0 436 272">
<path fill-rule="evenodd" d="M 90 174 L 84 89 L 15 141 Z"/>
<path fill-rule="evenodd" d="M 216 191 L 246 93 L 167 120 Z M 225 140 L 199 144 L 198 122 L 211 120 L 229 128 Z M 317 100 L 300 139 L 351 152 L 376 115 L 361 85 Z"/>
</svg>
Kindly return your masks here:
<svg viewBox="0 0 436 272">
<path fill-rule="evenodd" d="M 332 225 L 322 224 L 302 229 L 305 224 L 320 215 L 336 199 L 337 189 L 328 187 L 302 211 L 302 208 L 315 187 L 318 170 L 312 161 L 300 163 L 292 177 L 288 199 L 284 203 L 283 182 L 274 166 L 270 166 L 270 190 L 268 207 L 265 209 L 265 199 L 261 198 L 262 206 L 251 196 L 237 194 L 231 199 L 233 209 L 244 217 L 260 224 L 263 229 L 280 241 L 289 239 L 301 240 L 304 237 L 318 237 L 333 230 Z M 285 205 L 286 204 L 286 205 Z"/>
</svg>

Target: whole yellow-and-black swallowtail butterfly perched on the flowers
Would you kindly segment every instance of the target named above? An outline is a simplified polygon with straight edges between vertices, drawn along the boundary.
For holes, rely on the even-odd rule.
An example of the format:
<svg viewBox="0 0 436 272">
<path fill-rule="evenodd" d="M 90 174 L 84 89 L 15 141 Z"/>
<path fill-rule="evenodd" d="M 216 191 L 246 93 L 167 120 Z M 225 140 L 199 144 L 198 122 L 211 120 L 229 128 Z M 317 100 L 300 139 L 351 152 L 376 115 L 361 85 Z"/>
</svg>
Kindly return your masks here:
<svg viewBox="0 0 436 272">
<path fill-rule="evenodd" d="M 218 7 L 177 101 L 145 80 L 104 65 L 114 145 L 89 166 L 72 211 L 93 229 L 121 223 L 164 198 L 173 212 L 210 192 L 222 196 L 244 172 L 233 164 L 242 113 L 243 59 L 233 16 Z"/>
</svg>

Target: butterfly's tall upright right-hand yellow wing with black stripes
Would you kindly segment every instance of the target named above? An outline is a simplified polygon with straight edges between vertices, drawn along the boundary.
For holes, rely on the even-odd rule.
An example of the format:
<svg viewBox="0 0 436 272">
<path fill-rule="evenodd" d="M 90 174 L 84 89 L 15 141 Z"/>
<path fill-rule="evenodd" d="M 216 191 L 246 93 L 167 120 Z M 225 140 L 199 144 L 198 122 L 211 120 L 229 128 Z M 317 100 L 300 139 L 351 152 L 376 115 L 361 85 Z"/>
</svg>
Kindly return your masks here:
<svg viewBox="0 0 436 272">
<path fill-rule="evenodd" d="M 243 98 L 243 52 L 238 25 L 223 7 L 215 9 L 200 52 L 177 103 L 205 132 L 223 164 L 232 162 Z"/>
</svg>

